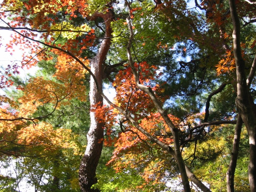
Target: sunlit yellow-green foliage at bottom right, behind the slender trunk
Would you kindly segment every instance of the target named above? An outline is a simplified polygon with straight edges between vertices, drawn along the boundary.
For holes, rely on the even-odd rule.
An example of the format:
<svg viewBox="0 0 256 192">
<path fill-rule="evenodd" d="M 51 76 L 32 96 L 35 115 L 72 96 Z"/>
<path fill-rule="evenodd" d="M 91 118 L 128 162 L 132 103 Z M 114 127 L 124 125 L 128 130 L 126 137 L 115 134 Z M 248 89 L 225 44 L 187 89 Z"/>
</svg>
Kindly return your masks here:
<svg viewBox="0 0 256 192">
<path fill-rule="evenodd" d="M 195 144 L 191 144 L 185 149 L 185 156 L 189 158 L 189 164 L 194 169 L 194 173 L 199 178 L 210 185 L 212 191 L 226 191 L 226 172 L 230 161 L 230 151 L 233 144 L 234 126 L 214 127 L 204 141 L 197 142 L 196 153 Z M 214 136 L 213 136 L 214 134 Z M 235 172 L 235 191 L 249 191 L 247 176 L 248 154 L 248 135 L 243 128 L 241 133 L 240 151 Z M 245 155 L 245 156 L 244 156 Z"/>
</svg>

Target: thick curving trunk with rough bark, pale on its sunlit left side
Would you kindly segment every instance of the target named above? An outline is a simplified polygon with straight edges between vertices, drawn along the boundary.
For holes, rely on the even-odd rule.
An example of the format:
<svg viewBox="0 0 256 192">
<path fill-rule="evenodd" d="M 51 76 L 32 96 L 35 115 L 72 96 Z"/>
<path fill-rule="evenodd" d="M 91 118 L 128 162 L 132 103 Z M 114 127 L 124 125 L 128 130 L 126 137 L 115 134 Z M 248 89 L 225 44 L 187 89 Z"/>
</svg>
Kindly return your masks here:
<svg viewBox="0 0 256 192">
<path fill-rule="evenodd" d="M 93 20 L 96 17 L 102 17 L 104 19 L 106 25 L 105 37 L 110 37 L 110 22 L 112 19 L 112 13 L 95 13 L 91 20 Z M 103 98 L 100 95 L 100 93 L 102 92 L 102 63 L 106 58 L 106 55 L 110 47 L 110 43 L 110 38 L 105 38 L 100 45 L 97 55 L 91 60 L 91 71 L 94 74 L 94 78 L 91 76 L 90 82 L 91 106 L 99 102 L 102 104 L 103 101 Z M 98 89 L 96 88 L 96 85 L 94 83 L 95 79 L 97 80 Z M 104 136 L 104 123 L 98 122 L 94 112 L 90 112 L 90 117 L 91 125 L 90 130 L 87 134 L 87 147 L 79 168 L 79 184 L 82 192 L 99 191 L 98 189 L 92 189 L 91 187 L 93 184 L 97 183 L 96 168 L 100 159 L 101 150 L 103 146 L 103 142 L 99 143 L 99 140 L 102 139 Z"/>
</svg>

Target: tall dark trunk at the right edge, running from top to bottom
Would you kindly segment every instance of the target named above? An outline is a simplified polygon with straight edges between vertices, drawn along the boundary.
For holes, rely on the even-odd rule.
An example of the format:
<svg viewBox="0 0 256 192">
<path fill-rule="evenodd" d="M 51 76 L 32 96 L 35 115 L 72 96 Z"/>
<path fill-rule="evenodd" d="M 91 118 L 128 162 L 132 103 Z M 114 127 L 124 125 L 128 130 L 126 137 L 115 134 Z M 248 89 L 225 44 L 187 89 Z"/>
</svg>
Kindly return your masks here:
<svg viewBox="0 0 256 192">
<path fill-rule="evenodd" d="M 238 113 L 246 126 L 249 145 L 250 145 L 250 161 L 248 165 L 248 177 L 252 192 L 256 191 L 256 116 L 255 104 L 249 92 L 249 87 L 246 84 L 245 63 L 241 54 L 240 46 L 240 21 L 236 11 L 235 0 L 229 0 L 230 14 L 233 23 L 233 46 L 234 56 L 236 61 L 236 78 L 237 78 L 237 97 L 236 107 Z M 251 74 L 250 74 L 251 75 Z M 253 75 L 254 76 L 254 75 Z"/>
</svg>

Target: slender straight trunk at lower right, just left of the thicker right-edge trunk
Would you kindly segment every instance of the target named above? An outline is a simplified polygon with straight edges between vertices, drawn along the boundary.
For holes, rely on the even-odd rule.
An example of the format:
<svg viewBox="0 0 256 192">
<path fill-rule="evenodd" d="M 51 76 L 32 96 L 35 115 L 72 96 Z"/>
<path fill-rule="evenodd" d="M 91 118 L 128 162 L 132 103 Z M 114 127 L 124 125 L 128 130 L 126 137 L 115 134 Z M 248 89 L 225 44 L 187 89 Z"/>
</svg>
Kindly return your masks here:
<svg viewBox="0 0 256 192">
<path fill-rule="evenodd" d="M 239 143 L 240 143 L 242 125 L 243 125 L 242 118 L 238 114 L 235 135 L 234 135 L 234 141 L 233 141 L 233 148 L 232 148 L 232 152 L 231 152 L 231 159 L 230 159 L 230 163 L 228 166 L 228 171 L 226 173 L 227 192 L 235 192 L 234 178 L 235 178 L 236 162 L 237 162 L 238 151 L 239 151 Z"/>
</svg>

